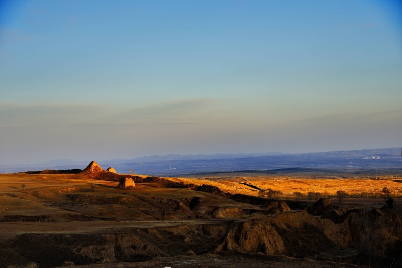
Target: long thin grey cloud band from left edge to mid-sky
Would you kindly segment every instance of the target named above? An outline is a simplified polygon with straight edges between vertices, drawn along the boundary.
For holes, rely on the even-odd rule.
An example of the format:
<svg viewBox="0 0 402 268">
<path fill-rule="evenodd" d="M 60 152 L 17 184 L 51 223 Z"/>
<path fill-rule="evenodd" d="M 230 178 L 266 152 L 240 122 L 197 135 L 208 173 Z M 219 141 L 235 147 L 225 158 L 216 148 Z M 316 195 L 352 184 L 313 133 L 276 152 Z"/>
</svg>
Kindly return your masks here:
<svg viewBox="0 0 402 268">
<path fill-rule="evenodd" d="M 213 103 L 212 99 L 190 99 L 128 111 L 113 106 L 83 104 L 0 104 L 0 126 L 198 124 L 203 118 L 202 111 Z"/>
</svg>

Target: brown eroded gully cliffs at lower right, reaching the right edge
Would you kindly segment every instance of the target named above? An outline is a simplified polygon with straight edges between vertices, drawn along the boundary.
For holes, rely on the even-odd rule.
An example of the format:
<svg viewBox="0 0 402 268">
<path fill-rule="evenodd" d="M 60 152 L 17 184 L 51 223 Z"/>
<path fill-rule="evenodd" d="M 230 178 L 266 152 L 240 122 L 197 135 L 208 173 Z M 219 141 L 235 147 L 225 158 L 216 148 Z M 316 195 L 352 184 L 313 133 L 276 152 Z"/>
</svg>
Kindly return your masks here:
<svg viewBox="0 0 402 268">
<path fill-rule="evenodd" d="M 274 216 L 236 221 L 228 226 L 216 252 L 228 250 L 308 257 L 358 265 L 387 263 L 399 257 L 401 220 L 394 210 L 346 211 L 345 219 L 312 216 L 290 211 Z"/>
</svg>

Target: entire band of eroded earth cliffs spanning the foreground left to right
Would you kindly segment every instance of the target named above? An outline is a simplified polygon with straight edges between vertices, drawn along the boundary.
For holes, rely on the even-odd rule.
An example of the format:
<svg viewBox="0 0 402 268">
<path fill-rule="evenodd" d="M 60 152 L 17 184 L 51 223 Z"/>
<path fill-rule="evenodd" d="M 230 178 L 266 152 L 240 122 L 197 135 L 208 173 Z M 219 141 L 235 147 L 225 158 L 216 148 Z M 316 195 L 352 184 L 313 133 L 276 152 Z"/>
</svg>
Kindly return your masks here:
<svg viewBox="0 0 402 268">
<path fill-rule="evenodd" d="M 389 225 L 390 213 L 387 209 L 360 211 L 349 214 L 342 223 L 334 223 L 307 211 L 291 211 L 209 224 L 121 228 L 90 234 L 24 234 L 1 244 L 0 253 L 13 252 L 10 263 L 35 260 L 41 267 L 61 266 L 67 260 L 75 265 L 102 260 L 136 262 L 186 255 L 190 250 L 197 255 L 258 252 L 367 265 L 387 254 L 399 254 L 395 251 L 398 238 Z"/>
</svg>

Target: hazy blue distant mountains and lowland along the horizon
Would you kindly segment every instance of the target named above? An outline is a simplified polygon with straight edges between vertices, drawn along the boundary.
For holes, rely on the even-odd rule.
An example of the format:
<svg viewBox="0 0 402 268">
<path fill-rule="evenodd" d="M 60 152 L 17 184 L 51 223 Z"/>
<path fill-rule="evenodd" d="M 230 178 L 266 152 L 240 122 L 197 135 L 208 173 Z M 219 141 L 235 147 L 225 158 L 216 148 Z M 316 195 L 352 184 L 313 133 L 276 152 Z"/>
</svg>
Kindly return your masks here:
<svg viewBox="0 0 402 268">
<path fill-rule="evenodd" d="M 0 165 L 1 173 L 83 169 L 88 161 L 70 159 L 51 160 L 36 165 Z M 402 169 L 401 148 L 380 148 L 317 153 L 253 153 L 253 154 L 197 154 L 152 155 L 134 159 L 98 161 L 103 169 L 113 167 L 118 173 L 158 176 L 179 176 L 202 172 L 269 171 L 278 169 L 331 169 L 339 171 Z"/>
</svg>

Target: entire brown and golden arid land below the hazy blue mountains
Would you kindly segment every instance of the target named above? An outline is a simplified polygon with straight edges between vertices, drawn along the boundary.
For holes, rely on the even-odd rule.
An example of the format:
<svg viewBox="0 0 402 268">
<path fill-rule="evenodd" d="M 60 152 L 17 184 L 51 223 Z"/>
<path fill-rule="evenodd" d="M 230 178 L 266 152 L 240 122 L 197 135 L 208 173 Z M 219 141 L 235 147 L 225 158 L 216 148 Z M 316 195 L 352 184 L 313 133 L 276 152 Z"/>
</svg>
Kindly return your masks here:
<svg viewBox="0 0 402 268">
<path fill-rule="evenodd" d="M 401 190 L 400 175 L 0 174 L 0 267 L 396 267 Z"/>
</svg>

